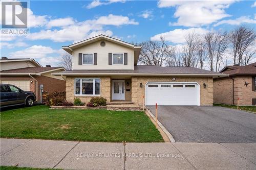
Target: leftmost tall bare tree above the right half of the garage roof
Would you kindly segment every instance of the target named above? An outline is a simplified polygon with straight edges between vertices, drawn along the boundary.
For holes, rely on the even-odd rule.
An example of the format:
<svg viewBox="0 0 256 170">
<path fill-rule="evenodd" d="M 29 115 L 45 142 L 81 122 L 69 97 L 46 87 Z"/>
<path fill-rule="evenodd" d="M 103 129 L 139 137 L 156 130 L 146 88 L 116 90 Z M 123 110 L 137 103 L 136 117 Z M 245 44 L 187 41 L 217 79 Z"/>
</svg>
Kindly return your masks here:
<svg viewBox="0 0 256 170">
<path fill-rule="evenodd" d="M 199 44 L 199 35 L 190 32 L 185 36 L 185 44 L 182 50 L 183 66 L 195 66 L 197 63 L 196 52 Z"/>
</svg>

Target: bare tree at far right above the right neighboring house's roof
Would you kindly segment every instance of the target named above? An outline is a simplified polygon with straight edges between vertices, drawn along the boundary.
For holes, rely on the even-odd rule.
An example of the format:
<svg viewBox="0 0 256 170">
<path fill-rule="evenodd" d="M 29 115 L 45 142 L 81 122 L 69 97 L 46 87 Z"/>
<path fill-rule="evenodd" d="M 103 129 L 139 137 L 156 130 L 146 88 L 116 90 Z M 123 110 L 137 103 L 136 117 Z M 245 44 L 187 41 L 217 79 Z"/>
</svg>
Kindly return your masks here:
<svg viewBox="0 0 256 170">
<path fill-rule="evenodd" d="M 256 33 L 253 29 L 240 26 L 230 33 L 234 64 L 247 65 L 255 54 Z M 249 60 L 248 60 L 249 59 Z"/>
</svg>

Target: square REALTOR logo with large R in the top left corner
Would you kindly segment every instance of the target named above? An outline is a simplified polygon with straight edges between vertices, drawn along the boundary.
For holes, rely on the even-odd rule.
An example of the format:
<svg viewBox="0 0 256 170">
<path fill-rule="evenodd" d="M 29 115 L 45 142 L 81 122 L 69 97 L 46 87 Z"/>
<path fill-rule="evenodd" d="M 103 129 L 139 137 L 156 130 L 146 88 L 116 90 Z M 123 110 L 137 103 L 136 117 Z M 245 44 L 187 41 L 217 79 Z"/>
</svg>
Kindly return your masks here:
<svg viewBox="0 0 256 170">
<path fill-rule="evenodd" d="M 2 28 L 28 28 L 28 3 L 2 2 Z"/>
</svg>

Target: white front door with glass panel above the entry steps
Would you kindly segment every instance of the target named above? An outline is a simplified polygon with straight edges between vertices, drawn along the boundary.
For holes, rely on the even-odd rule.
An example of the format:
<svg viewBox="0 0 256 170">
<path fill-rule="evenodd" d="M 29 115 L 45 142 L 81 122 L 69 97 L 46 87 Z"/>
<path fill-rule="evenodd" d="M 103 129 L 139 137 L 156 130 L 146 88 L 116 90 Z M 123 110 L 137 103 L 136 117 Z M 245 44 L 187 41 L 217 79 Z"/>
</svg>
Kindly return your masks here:
<svg viewBox="0 0 256 170">
<path fill-rule="evenodd" d="M 124 100 L 124 80 L 112 80 L 112 100 Z"/>
</svg>

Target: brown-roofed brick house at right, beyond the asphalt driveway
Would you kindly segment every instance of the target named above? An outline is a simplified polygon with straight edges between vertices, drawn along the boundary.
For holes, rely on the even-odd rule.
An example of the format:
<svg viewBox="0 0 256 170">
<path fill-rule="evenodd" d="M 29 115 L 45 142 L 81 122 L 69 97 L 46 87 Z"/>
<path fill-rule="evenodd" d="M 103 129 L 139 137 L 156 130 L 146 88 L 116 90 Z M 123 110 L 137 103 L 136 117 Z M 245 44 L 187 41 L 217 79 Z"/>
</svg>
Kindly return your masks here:
<svg viewBox="0 0 256 170">
<path fill-rule="evenodd" d="M 256 63 L 246 66 L 226 66 L 221 71 L 229 75 L 214 79 L 214 103 L 256 105 Z"/>
</svg>

